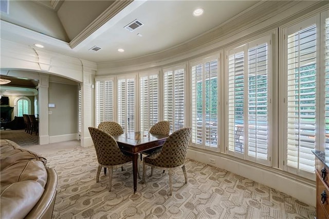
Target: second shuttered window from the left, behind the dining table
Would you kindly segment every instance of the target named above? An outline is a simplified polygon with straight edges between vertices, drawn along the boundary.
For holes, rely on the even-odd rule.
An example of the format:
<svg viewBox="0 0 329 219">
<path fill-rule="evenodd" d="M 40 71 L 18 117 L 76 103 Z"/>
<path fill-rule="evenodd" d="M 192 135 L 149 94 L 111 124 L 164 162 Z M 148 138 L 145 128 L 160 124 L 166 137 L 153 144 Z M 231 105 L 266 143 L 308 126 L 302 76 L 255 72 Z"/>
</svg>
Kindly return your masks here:
<svg viewBox="0 0 329 219">
<path fill-rule="evenodd" d="M 118 122 L 124 132 L 135 132 L 136 75 L 118 77 Z"/>
</svg>

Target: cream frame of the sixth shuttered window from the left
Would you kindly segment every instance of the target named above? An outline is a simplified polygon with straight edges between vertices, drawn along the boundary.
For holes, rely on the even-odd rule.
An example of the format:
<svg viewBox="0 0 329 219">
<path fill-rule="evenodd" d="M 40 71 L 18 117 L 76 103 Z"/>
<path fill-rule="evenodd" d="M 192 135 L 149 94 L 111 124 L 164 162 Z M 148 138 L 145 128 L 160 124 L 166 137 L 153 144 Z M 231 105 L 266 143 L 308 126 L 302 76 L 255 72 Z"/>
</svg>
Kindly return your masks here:
<svg viewBox="0 0 329 219">
<path fill-rule="evenodd" d="M 270 31 L 266 32 L 262 35 L 259 35 L 258 37 L 255 38 L 250 38 L 244 42 L 234 44 L 224 50 L 225 52 L 225 101 L 226 101 L 226 106 L 225 106 L 225 153 L 229 154 L 234 157 L 238 157 L 244 160 L 252 161 L 255 163 L 260 163 L 265 166 L 272 167 L 272 162 L 273 162 L 273 150 L 275 150 L 275 145 L 273 143 L 273 136 L 275 133 L 273 133 L 273 127 L 275 127 L 275 124 L 273 122 L 273 116 L 274 113 L 276 112 L 273 106 L 273 90 L 274 90 L 274 84 L 273 81 L 275 79 L 275 68 L 274 68 L 274 59 L 273 57 L 275 56 L 274 53 L 274 48 L 273 48 L 273 38 L 274 38 L 275 32 Z M 232 138 L 234 140 L 235 136 L 230 137 L 229 136 L 229 56 L 231 54 L 239 54 L 243 53 L 243 74 L 244 74 L 244 97 L 243 97 L 243 102 L 244 102 L 244 109 L 243 109 L 243 131 L 242 135 L 244 139 L 248 139 L 248 90 L 249 90 L 249 63 L 248 63 L 248 51 L 250 48 L 254 48 L 257 45 L 262 45 L 264 43 L 267 43 L 267 133 L 268 133 L 268 139 L 267 139 L 267 159 L 261 159 L 258 158 L 257 156 L 250 156 L 248 155 L 248 150 L 249 150 L 249 145 L 248 145 L 248 140 L 243 141 L 243 153 L 238 153 L 235 151 L 229 150 L 229 139 Z"/>
</svg>

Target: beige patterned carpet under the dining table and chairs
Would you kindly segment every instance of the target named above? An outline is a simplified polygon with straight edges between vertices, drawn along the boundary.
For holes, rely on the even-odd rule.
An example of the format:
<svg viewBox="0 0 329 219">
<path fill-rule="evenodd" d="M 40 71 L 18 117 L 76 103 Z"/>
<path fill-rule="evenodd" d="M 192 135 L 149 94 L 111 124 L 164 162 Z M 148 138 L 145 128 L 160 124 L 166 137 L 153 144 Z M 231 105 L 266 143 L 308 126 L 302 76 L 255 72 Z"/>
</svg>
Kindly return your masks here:
<svg viewBox="0 0 329 219">
<path fill-rule="evenodd" d="M 59 186 L 53 218 L 314 218 L 315 208 L 250 179 L 188 160 L 188 184 L 180 168 L 173 171 L 169 196 L 168 172 L 154 170 L 147 184 L 133 194 L 132 165 L 113 171 L 112 191 L 98 167 L 94 148 L 44 154 L 55 168 Z M 142 165 L 141 165 L 142 166 Z M 150 169 L 148 168 L 148 175 Z M 139 180 L 139 179 L 138 179 Z"/>
</svg>

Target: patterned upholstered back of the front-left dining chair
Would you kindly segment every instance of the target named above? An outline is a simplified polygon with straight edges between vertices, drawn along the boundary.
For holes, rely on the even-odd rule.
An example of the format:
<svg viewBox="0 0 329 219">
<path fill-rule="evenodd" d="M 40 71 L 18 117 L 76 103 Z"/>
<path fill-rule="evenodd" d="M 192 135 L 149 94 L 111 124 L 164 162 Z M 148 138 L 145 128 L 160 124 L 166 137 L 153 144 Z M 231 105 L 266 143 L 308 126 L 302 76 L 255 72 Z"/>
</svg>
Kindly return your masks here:
<svg viewBox="0 0 329 219">
<path fill-rule="evenodd" d="M 122 160 L 127 158 L 120 151 L 112 135 L 96 127 L 88 127 L 88 130 L 94 142 L 97 160 L 101 165 L 113 166 L 124 163 Z"/>
</svg>

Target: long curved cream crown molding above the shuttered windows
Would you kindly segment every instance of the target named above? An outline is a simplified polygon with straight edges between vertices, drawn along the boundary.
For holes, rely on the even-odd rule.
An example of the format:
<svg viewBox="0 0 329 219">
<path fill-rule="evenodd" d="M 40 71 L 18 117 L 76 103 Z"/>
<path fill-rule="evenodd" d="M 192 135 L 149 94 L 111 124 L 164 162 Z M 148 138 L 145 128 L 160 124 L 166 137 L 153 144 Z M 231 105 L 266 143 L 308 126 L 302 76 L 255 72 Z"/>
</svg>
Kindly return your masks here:
<svg viewBox="0 0 329 219">
<path fill-rule="evenodd" d="M 196 54 L 222 49 L 221 47 L 226 44 L 268 27 L 278 26 L 280 22 L 292 20 L 297 15 L 315 10 L 325 4 L 325 1 L 261 1 L 227 22 L 185 43 L 138 58 L 98 63 L 98 69 L 99 72 L 103 69 L 124 71 L 128 66 L 155 67 L 170 64 L 177 59 L 184 61 Z"/>
</svg>

